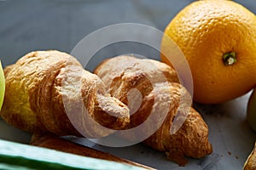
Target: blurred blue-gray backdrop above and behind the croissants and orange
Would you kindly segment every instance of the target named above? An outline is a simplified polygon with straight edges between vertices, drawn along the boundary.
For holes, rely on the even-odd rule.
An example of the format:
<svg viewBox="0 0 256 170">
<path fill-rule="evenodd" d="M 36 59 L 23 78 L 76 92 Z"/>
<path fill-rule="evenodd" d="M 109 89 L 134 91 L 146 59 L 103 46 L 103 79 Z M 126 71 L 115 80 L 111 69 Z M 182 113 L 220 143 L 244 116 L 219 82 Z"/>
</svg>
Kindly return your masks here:
<svg viewBox="0 0 256 170">
<path fill-rule="evenodd" d="M 192 0 L 0 0 L 0 59 L 14 63 L 33 50 L 58 49 L 70 53 L 92 31 L 131 22 L 164 31 L 167 24 Z M 254 0 L 237 1 L 256 13 Z M 124 46 L 123 46 L 124 47 Z M 157 53 L 131 45 L 149 58 Z M 114 50 L 113 50 L 114 49 Z M 119 47 L 105 50 L 120 54 Z"/>
</svg>

